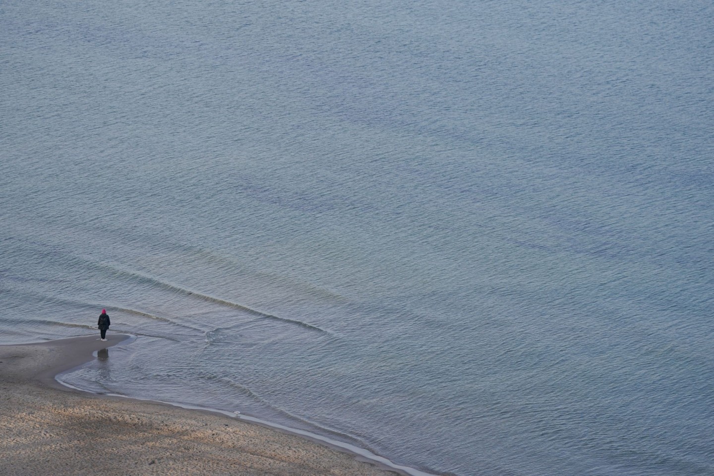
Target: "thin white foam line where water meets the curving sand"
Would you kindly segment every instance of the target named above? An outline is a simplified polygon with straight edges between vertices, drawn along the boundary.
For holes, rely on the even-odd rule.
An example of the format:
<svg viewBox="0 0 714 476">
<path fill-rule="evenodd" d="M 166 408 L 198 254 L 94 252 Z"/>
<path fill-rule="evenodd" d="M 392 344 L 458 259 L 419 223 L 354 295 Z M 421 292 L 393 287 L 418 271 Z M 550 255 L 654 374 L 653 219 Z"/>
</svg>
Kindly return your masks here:
<svg viewBox="0 0 714 476">
<path fill-rule="evenodd" d="M 55 380 L 57 380 L 57 382 L 61 383 L 61 385 L 64 385 L 65 387 L 69 387 L 74 390 L 79 390 L 80 392 L 94 393 L 94 392 L 89 392 L 87 390 L 82 390 L 81 388 L 77 388 L 74 385 L 71 385 L 69 383 L 63 382 L 62 380 L 59 380 L 59 375 L 57 375 L 55 377 Z M 243 415 L 241 412 L 229 412 L 227 410 L 218 410 L 218 408 L 201 407 L 198 405 L 188 405 L 187 403 L 166 402 L 164 400 L 151 400 L 151 398 L 127 397 L 126 395 L 120 395 L 119 393 L 96 393 L 96 395 L 107 395 L 109 397 L 129 398 L 131 400 L 141 400 L 144 402 L 159 402 L 159 403 L 164 403 L 166 405 L 173 405 L 174 407 L 186 408 L 186 410 L 202 410 L 202 411 L 206 411 L 206 412 L 220 413 L 221 415 L 225 415 L 226 417 L 231 417 L 231 418 L 236 418 L 238 420 L 253 422 L 258 425 L 263 425 L 266 427 L 275 428 L 276 430 L 281 430 L 281 431 L 289 433 L 291 435 L 306 437 L 308 440 L 323 442 L 328 446 L 341 448 L 342 450 L 345 450 L 346 452 L 350 452 L 353 455 L 358 455 L 360 457 L 363 457 L 365 460 L 368 460 L 371 462 L 376 462 L 379 465 L 382 465 L 383 467 L 387 467 L 387 468 L 390 468 L 393 470 L 398 470 L 398 471 L 404 472 L 409 476 L 437 476 L 437 475 L 433 475 L 431 472 L 423 472 L 420 470 L 416 470 L 413 467 L 398 465 L 395 462 L 388 460 L 386 457 L 375 455 L 373 452 L 371 452 L 369 450 L 365 450 L 365 449 L 363 449 L 361 447 L 357 447 L 355 445 L 350 445 L 349 443 L 345 443 L 345 442 L 341 442 L 341 441 L 337 441 L 337 440 L 331 440 L 328 437 L 316 435 L 315 433 L 311 433 L 311 432 L 308 432 L 305 430 L 296 430 L 295 428 L 286 427 L 285 425 L 280 425 L 279 423 L 268 422 L 267 420 L 261 420 L 260 418 L 251 417 L 250 415 Z"/>
</svg>

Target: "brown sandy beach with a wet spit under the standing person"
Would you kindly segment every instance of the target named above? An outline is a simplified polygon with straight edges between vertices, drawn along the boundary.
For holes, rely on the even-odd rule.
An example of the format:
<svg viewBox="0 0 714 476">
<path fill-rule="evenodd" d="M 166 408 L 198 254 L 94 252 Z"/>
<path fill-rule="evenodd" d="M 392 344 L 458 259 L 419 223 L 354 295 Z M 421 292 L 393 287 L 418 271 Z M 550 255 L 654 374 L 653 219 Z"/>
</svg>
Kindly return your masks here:
<svg viewBox="0 0 714 476">
<path fill-rule="evenodd" d="M 55 375 L 128 335 L 0 346 L 2 475 L 396 475 L 223 415 L 65 388 Z"/>
</svg>

